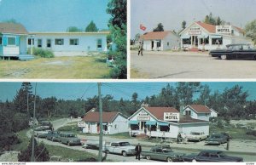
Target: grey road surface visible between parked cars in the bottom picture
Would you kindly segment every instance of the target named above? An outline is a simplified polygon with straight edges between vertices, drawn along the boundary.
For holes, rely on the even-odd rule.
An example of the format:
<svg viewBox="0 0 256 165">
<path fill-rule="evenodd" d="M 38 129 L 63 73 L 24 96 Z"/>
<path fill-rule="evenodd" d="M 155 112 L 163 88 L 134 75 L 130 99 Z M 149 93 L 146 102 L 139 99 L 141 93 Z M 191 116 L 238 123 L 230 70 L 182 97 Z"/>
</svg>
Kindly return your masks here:
<svg viewBox="0 0 256 165">
<path fill-rule="evenodd" d="M 53 123 L 53 127 L 55 129 L 60 128 L 66 124 L 68 124 L 69 122 L 74 122 L 75 119 L 73 119 L 73 121 L 71 121 L 70 119 L 59 119 L 56 120 Z M 31 136 L 31 133 L 28 132 L 27 133 L 28 136 Z M 79 139 L 92 139 L 92 140 L 98 140 L 99 137 L 98 136 L 85 136 L 85 135 L 79 135 Z M 78 151 L 84 151 L 84 153 L 86 152 L 90 152 L 92 154 L 98 154 L 98 151 L 96 150 L 90 150 L 90 149 L 84 149 L 82 148 L 82 146 L 67 146 L 67 145 L 63 145 L 61 143 L 58 142 L 52 142 L 49 141 L 47 139 L 38 139 L 39 141 L 44 141 L 45 144 L 48 145 L 58 145 L 61 147 L 66 147 L 66 148 L 70 148 L 73 150 L 78 150 Z M 142 141 L 140 139 L 116 139 L 113 138 L 111 136 L 104 136 L 103 140 L 105 141 L 120 141 L 120 140 L 125 140 L 125 141 L 129 141 L 132 145 L 136 145 L 138 142 L 140 142 L 143 145 L 143 151 L 148 151 L 149 150 L 149 146 L 154 145 L 154 143 L 151 142 L 147 142 L 147 141 Z M 252 145 L 253 142 L 248 142 L 248 141 L 236 141 L 233 140 L 232 142 L 232 148 L 234 149 L 234 151 L 236 152 L 228 152 L 228 155 L 230 156 L 241 156 L 243 157 L 245 162 L 256 162 L 256 158 L 255 156 L 252 155 L 252 153 L 237 153 L 237 151 L 247 151 L 247 152 L 255 152 L 255 143 Z M 200 150 L 203 149 L 213 149 L 213 150 L 221 150 L 221 151 L 225 151 L 225 145 L 213 145 L 213 146 L 206 146 L 204 145 L 204 141 L 198 142 L 198 143 L 189 143 L 189 144 L 176 144 L 176 143 L 169 143 L 173 148 L 174 151 L 177 152 L 182 152 L 185 154 L 191 154 L 191 153 L 198 153 Z M 194 148 L 191 148 L 191 146 L 194 146 Z M 237 149 L 236 149 L 237 148 Z M 108 154 L 107 157 L 108 160 L 113 160 L 115 162 L 138 162 L 135 159 L 135 156 L 119 156 L 119 155 L 115 155 L 115 154 Z M 142 159 L 141 162 L 154 162 L 153 160 L 146 160 L 146 159 Z"/>
</svg>

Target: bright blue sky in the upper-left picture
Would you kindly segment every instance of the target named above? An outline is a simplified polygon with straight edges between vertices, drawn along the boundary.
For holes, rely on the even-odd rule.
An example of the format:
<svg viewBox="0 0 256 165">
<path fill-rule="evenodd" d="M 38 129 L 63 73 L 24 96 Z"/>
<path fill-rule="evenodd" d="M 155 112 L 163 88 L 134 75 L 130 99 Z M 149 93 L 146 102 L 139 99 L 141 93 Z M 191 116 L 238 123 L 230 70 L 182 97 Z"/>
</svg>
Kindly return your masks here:
<svg viewBox="0 0 256 165">
<path fill-rule="evenodd" d="M 66 31 L 68 26 L 85 29 L 93 20 L 108 29 L 108 0 L 0 0 L 0 21 L 15 19 L 27 31 Z"/>
</svg>

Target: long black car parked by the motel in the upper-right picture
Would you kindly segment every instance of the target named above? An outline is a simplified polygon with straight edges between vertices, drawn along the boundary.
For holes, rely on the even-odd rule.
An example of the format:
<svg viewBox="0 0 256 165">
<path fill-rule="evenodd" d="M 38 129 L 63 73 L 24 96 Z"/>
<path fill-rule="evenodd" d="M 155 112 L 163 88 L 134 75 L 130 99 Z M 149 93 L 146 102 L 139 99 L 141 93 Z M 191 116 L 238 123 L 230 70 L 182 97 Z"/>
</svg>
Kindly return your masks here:
<svg viewBox="0 0 256 165">
<path fill-rule="evenodd" d="M 251 43 L 228 44 L 226 48 L 211 50 L 209 54 L 222 60 L 256 60 L 256 48 Z"/>
</svg>

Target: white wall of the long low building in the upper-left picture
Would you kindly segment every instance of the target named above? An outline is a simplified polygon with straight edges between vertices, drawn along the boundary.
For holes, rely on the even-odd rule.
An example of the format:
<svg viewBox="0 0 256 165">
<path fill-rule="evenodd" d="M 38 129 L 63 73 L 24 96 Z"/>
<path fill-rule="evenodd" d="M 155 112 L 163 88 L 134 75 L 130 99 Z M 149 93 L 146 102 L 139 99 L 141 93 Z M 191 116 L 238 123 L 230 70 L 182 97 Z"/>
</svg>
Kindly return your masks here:
<svg viewBox="0 0 256 165">
<path fill-rule="evenodd" d="M 38 47 L 38 39 L 42 39 L 42 48 L 47 48 L 46 42 L 51 40 L 51 49 L 54 52 L 89 52 L 89 51 L 107 51 L 107 35 L 108 34 L 68 34 L 68 33 L 55 33 L 55 34 L 36 34 L 35 47 Z M 63 45 L 55 45 L 55 39 L 64 39 Z M 70 45 L 70 39 L 79 39 L 79 45 Z M 102 49 L 97 48 L 97 40 L 102 39 Z"/>
</svg>

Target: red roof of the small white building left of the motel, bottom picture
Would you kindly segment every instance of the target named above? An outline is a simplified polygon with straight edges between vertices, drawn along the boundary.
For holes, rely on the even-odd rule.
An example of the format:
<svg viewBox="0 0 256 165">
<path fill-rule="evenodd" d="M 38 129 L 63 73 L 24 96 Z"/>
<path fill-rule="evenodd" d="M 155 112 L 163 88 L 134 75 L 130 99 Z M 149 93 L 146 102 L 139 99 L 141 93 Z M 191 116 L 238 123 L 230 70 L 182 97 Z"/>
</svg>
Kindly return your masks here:
<svg viewBox="0 0 256 165">
<path fill-rule="evenodd" d="M 122 117 L 125 117 L 121 113 L 117 111 L 113 112 L 102 112 L 102 122 L 113 122 L 113 120 L 118 116 L 121 115 Z M 100 112 L 98 111 L 89 111 L 86 113 L 85 117 L 83 118 L 83 121 L 85 122 L 99 122 Z M 127 118 L 127 117 L 125 117 Z"/>
</svg>

